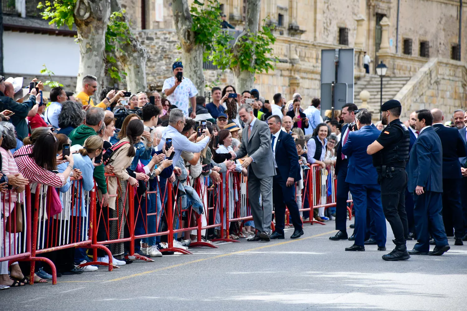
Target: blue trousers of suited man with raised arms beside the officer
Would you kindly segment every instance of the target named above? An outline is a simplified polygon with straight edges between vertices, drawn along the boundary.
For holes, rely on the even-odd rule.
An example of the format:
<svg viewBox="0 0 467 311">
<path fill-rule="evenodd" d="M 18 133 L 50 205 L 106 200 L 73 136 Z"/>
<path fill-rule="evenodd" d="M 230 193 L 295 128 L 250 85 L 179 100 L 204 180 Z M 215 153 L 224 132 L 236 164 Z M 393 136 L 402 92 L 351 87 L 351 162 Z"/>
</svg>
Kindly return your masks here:
<svg viewBox="0 0 467 311">
<path fill-rule="evenodd" d="M 381 192 L 377 185 L 350 184 L 355 208 L 355 244 L 364 246 L 367 233 L 367 211 L 375 221 L 378 246 L 386 245 L 386 220 L 381 205 Z"/>
</svg>

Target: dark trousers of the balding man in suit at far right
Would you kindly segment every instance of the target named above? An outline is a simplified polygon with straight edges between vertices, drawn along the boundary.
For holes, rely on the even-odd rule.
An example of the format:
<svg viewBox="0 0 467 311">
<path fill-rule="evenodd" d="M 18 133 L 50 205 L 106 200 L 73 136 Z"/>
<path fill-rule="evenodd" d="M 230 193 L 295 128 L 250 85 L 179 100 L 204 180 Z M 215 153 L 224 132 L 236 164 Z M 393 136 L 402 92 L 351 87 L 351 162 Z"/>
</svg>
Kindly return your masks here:
<svg viewBox="0 0 467 311">
<path fill-rule="evenodd" d="M 460 204 L 461 179 L 443 178 L 443 222 L 446 234 L 452 236 L 453 227 L 455 237 L 464 236 L 464 221 L 462 205 Z M 466 190 L 466 189 L 464 189 Z"/>
</svg>

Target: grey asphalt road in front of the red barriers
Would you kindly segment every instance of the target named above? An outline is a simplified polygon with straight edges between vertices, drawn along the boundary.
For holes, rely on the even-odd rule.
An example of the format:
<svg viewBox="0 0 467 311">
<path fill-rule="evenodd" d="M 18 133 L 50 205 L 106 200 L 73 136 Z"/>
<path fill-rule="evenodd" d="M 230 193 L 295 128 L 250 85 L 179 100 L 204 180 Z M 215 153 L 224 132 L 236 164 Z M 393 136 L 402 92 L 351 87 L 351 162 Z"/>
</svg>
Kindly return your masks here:
<svg viewBox="0 0 467 311">
<path fill-rule="evenodd" d="M 385 262 L 381 256 L 394 246 L 389 224 L 387 252 L 376 245 L 346 252 L 353 242 L 329 241 L 333 228 L 334 221 L 306 225 L 299 240 L 288 229 L 285 240 L 241 239 L 113 272 L 62 276 L 57 285 L 1 290 L 0 310 L 467 310 L 467 244 L 450 238 L 443 256 Z"/>
</svg>

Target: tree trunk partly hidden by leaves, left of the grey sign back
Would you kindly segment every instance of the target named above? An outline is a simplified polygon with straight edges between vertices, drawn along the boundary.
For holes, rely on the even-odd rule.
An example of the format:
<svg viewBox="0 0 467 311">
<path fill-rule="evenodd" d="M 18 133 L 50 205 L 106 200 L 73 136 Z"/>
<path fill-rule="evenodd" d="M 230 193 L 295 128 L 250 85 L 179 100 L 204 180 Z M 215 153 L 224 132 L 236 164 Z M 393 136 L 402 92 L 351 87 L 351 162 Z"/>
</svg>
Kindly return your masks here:
<svg viewBox="0 0 467 311">
<path fill-rule="evenodd" d="M 235 44 L 233 45 L 233 53 L 239 53 L 235 48 L 237 42 L 242 40 L 242 37 L 249 34 L 258 33 L 258 25 L 260 20 L 260 10 L 261 10 L 261 0 L 247 0 L 247 16 L 245 21 L 245 29 L 238 36 Z M 255 57 L 252 57 L 250 62 L 250 67 L 254 67 Z M 244 90 L 253 89 L 253 83 L 255 82 L 255 73 L 252 73 L 248 70 L 240 70 L 240 66 L 232 68 L 233 78 L 235 82 L 235 90 L 242 92 Z"/>
</svg>

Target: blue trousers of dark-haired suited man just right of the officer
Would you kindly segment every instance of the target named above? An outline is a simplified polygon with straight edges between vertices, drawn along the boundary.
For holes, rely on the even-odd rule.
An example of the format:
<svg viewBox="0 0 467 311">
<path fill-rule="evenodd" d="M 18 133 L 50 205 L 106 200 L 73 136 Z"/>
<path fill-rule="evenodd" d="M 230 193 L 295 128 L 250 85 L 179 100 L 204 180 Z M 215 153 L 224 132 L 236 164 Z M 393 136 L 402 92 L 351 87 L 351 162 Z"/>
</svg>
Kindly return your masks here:
<svg viewBox="0 0 467 311">
<path fill-rule="evenodd" d="M 436 246 L 448 245 L 443 217 L 441 216 L 441 193 L 425 191 L 424 194 L 414 194 L 414 198 L 413 214 L 417 233 L 417 244 L 415 244 L 414 249 L 424 253 L 428 252 L 430 250 L 430 233 L 436 242 Z"/>
</svg>

